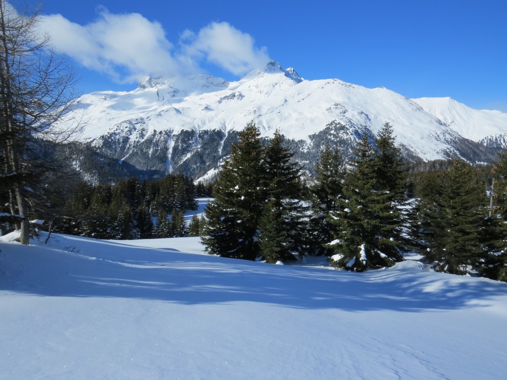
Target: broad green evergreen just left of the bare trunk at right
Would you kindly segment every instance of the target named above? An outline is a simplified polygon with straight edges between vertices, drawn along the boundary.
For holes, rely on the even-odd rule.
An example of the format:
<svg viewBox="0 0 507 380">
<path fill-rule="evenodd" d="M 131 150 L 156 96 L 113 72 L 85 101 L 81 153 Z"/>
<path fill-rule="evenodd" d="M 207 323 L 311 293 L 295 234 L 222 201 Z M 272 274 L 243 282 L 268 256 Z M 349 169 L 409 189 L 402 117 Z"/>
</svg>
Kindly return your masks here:
<svg viewBox="0 0 507 380">
<path fill-rule="evenodd" d="M 454 160 L 442 175 L 433 196 L 421 200 L 421 226 L 427 261 L 439 272 L 464 275 L 480 264 L 484 255 L 481 235 L 486 197 L 476 171 L 463 161 Z"/>
</svg>

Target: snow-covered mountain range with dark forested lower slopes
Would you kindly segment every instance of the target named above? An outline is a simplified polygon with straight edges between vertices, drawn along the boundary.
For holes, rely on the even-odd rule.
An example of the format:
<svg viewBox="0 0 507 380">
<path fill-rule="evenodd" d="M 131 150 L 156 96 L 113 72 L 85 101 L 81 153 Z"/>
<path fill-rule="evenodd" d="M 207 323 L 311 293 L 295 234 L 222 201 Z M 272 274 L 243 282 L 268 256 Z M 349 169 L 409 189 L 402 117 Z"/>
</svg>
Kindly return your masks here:
<svg viewBox="0 0 507 380">
<path fill-rule="evenodd" d="M 338 79 L 306 81 L 274 61 L 237 82 L 150 78 L 131 92 L 84 95 L 73 112 L 85 121 L 87 149 L 149 175 L 204 175 L 250 120 L 265 137 L 279 129 L 309 172 L 323 145 L 341 146 L 347 155 L 360 133 L 375 133 L 384 122 L 411 160 L 491 161 L 507 136 L 507 113 Z"/>
</svg>

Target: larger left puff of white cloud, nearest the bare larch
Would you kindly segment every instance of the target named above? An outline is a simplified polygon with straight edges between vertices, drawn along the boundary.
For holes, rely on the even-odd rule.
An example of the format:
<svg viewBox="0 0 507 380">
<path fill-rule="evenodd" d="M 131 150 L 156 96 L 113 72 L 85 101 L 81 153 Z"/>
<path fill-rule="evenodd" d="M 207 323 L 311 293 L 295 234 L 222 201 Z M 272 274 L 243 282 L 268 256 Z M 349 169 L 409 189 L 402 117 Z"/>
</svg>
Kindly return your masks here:
<svg viewBox="0 0 507 380">
<path fill-rule="evenodd" d="M 137 13 L 114 15 L 102 10 L 97 21 L 85 26 L 50 15 L 44 17 L 43 27 L 57 49 L 117 82 L 182 73 L 183 65 L 171 55 L 173 46 L 162 26 Z"/>
</svg>

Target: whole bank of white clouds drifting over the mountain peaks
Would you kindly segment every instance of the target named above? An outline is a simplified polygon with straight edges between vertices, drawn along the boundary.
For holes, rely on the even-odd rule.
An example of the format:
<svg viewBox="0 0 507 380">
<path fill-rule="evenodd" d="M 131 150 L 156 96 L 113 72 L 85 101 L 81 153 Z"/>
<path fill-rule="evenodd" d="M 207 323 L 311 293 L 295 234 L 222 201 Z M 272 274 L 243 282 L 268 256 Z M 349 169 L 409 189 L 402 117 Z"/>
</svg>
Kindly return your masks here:
<svg viewBox="0 0 507 380">
<path fill-rule="evenodd" d="M 258 48 L 252 36 L 227 22 L 211 23 L 197 33 L 186 30 L 177 44 L 167 40 L 158 22 L 104 8 L 87 25 L 55 14 L 44 16 L 41 26 L 59 51 L 119 83 L 201 72 L 203 61 L 239 75 L 269 60 L 265 47 Z"/>
</svg>

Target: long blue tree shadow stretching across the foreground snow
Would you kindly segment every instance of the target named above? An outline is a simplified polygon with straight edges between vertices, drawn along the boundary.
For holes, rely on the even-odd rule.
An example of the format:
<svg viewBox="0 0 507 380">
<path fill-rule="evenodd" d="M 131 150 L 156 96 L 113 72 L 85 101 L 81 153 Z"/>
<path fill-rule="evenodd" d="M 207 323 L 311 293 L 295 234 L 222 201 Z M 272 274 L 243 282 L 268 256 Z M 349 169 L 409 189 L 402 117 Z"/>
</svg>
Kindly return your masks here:
<svg viewBox="0 0 507 380">
<path fill-rule="evenodd" d="M 59 239 L 71 250 L 71 237 Z M 2 245 L 0 290 L 186 305 L 261 302 L 349 312 L 450 310 L 472 302 L 487 306 L 491 297 L 507 295 L 507 284 L 424 272 L 413 262 L 358 274 L 82 239 L 76 239 L 80 248 L 72 253 Z"/>
</svg>

